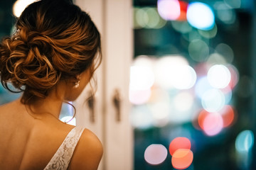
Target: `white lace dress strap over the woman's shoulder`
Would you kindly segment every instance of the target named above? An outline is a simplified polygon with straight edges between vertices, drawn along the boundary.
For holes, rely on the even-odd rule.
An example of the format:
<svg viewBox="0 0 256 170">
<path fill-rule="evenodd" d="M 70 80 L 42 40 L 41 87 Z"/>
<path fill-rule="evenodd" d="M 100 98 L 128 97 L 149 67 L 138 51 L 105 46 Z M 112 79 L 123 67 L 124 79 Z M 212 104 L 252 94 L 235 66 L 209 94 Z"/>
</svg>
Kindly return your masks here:
<svg viewBox="0 0 256 170">
<path fill-rule="evenodd" d="M 70 163 L 70 159 L 73 155 L 76 145 L 82 135 L 84 128 L 75 127 L 68 135 L 65 137 L 65 140 L 58 148 L 57 152 L 55 152 L 50 162 L 47 164 L 44 170 L 52 170 L 52 169 L 68 169 L 68 164 Z"/>
</svg>

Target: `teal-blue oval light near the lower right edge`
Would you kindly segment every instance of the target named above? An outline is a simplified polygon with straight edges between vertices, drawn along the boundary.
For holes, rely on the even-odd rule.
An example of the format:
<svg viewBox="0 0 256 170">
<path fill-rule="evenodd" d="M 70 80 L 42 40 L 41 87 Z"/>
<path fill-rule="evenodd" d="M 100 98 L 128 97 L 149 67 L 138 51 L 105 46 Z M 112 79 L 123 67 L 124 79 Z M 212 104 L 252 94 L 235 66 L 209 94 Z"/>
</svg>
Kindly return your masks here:
<svg viewBox="0 0 256 170">
<path fill-rule="evenodd" d="M 243 130 L 235 140 L 235 149 L 238 152 L 249 152 L 254 145 L 255 137 L 252 130 Z"/>
</svg>

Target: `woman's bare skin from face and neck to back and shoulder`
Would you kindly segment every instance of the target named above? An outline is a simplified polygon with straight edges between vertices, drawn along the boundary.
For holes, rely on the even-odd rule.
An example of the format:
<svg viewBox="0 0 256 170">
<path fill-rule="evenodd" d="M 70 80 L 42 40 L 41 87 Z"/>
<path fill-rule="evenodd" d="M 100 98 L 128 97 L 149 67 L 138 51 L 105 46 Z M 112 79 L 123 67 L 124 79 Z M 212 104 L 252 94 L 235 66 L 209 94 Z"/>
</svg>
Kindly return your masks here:
<svg viewBox="0 0 256 170">
<path fill-rule="evenodd" d="M 80 86 L 74 88 L 80 79 Z M 68 132 L 74 128 L 58 120 L 63 101 L 74 101 L 90 81 L 90 72 L 60 83 L 47 98 L 30 107 L 20 99 L 0 106 L 0 169 L 44 169 Z M 68 169 L 97 169 L 102 144 L 85 129 Z"/>
</svg>

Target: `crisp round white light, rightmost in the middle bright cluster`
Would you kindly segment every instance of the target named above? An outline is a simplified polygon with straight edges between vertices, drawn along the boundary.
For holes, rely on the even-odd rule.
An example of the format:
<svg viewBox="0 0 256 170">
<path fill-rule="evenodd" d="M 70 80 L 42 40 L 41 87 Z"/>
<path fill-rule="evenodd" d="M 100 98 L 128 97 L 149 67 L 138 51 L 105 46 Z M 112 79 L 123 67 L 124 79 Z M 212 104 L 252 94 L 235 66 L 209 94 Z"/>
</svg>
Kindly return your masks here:
<svg viewBox="0 0 256 170">
<path fill-rule="evenodd" d="M 223 89 L 230 83 L 231 74 L 227 67 L 222 64 L 216 64 L 208 70 L 207 78 L 211 86 Z"/>
</svg>

